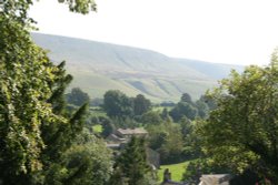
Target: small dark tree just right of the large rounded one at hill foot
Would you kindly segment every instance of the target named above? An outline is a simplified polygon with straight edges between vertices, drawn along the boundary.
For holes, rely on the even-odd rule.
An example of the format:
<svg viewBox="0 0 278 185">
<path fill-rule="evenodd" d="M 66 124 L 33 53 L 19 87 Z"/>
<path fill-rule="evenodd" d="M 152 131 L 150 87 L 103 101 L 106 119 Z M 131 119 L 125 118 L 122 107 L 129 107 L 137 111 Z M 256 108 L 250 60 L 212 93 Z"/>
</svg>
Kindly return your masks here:
<svg viewBox="0 0 278 185">
<path fill-rule="evenodd" d="M 135 115 L 142 115 L 150 110 L 151 103 L 142 94 L 138 94 L 133 99 Z"/>
</svg>

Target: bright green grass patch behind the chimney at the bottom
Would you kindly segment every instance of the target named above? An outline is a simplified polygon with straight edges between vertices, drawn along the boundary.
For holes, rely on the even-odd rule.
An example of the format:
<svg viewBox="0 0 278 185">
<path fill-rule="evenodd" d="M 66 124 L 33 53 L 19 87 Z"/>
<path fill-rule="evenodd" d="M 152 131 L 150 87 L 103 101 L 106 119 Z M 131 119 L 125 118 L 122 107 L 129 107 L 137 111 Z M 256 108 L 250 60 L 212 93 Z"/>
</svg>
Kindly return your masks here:
<svg viewBox="0 0 278 185">
<path fill-rule="evenodd" d="M 163 172 L 165 172 L 166 168 L 169 168 L 169 171 L 171 173 L 172 181 L 181 182 L 182 174 L 185 173 L 185 169 L 186 169 L 186 166 L 187 166 L 188 163 L 189 163 L 189 161 L 188 162 L 178 163 L 178 164 L 161 165 L 160 169 L 158 171 L 159 182 L 162 182 Z"/>
</svg>

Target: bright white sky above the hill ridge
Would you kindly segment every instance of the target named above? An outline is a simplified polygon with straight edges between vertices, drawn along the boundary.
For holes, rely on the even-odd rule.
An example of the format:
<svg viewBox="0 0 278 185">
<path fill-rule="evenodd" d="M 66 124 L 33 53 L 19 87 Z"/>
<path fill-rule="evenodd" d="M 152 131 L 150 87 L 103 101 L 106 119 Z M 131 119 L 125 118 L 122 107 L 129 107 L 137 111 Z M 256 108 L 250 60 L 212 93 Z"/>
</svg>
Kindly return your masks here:
<svg viewBox="0 0 278 185">
<path fill-rule="evenodd" d="M 277 0 L 96 0 L 71 13 L 57 0 L 30 10 L 39 32 L 150 49 L 215 63 L 267 65 L 278 47 Z"/>
</svg>

